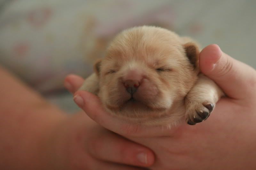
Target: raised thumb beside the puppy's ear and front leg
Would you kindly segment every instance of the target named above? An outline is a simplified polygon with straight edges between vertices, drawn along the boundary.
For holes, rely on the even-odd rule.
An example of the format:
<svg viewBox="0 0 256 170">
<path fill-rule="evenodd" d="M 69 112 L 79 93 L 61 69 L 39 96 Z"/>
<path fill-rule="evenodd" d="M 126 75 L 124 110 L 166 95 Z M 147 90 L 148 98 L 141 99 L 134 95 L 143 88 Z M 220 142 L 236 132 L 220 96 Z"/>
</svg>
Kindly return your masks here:
<svg viewBox="0 0 256 170">
<path fill-rule="evenodd" d="M 202 73 L 215 81 L 231 98 L 244 99 L 254 92 L 256 71 L 223 53 L 216 44 L 209 45 L 201 51 L 199 66 Z"/>
</svg>

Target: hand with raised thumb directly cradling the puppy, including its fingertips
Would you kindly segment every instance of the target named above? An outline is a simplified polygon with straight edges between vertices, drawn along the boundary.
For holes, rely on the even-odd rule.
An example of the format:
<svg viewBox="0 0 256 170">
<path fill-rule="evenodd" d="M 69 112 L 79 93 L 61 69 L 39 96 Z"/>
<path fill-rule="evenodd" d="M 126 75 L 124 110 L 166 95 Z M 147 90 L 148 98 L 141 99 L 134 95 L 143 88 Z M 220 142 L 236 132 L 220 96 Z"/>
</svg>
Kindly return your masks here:
<svg viewBox="0 0 256 170">
<path fill-rule="evenodd" d="M 199 66 L 226 97 L 195 126 L 183 121 L 171 129 L 148 130 L 111 116 L 92 93 L 77 91 L 74 100 L 101 126 L 152 149 L 152 169 L 256 169 L 256 71 L 215 44 L 201 51 Z M 75 86 L 83 79 L 69 76 L 67 81 Z"/>
</svg>

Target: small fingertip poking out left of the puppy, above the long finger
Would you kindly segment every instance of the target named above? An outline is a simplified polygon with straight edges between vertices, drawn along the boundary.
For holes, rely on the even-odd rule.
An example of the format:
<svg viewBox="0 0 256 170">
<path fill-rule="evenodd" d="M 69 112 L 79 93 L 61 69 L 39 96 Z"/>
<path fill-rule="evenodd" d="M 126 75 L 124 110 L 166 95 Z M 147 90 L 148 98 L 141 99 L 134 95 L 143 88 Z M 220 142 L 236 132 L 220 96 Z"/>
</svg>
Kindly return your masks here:
<svg viewBox="0 0 256 170">
<path fill-rule="evenodd" d="M 65 78 L 64 86 L 68 89 L 69 92 L 74 94 L 83 84 L 84 79 L 80 76 L 70 74 Z"/>
</svg>

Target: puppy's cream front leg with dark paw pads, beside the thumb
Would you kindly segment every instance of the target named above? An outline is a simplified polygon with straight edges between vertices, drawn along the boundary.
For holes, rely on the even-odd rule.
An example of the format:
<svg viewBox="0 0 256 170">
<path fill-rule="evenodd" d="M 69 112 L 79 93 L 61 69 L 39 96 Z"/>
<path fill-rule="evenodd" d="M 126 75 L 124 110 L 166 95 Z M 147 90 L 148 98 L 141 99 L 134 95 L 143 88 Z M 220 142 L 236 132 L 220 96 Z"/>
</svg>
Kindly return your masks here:
<svg viewBox="0 0 256 170">
<path fill-rule="evenodd" d="M 205 75 L 200 74 L 185 99 L 186 122 L 189 125 L 195 125 L 206 120 L 223 95 L 224 93 L 218 85 Z"/>
</svg>

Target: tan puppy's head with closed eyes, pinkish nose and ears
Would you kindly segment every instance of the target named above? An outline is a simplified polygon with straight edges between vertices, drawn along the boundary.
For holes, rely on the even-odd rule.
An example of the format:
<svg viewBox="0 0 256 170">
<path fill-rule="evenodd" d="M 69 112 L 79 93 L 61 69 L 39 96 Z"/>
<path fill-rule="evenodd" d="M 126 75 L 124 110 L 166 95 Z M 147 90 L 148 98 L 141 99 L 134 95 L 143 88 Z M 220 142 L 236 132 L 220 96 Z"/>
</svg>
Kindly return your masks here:
<svg viewBox="0 0 256 170">
<path fill-rule="evenodd" d="M 169 113 L 184 100 L 198 73 L 198 50 L 175 33 L 135 27 L 116 36 L 107 56 L 95 64 L 99 97 L 113 114 L 148 120 Z"/>
</svg>

